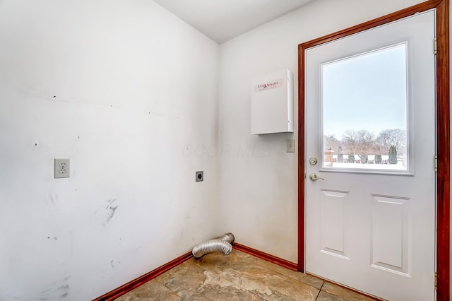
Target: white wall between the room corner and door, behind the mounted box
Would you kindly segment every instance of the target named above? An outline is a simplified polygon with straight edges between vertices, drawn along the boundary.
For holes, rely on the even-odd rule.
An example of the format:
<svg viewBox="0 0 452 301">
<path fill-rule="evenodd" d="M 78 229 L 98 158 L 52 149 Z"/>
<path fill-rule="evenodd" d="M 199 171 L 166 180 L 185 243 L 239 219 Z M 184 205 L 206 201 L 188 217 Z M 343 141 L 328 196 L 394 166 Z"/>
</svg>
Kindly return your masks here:
<svg viewBox="0 0 452 301">
<path fill-rule="evenodd" d="M 420 2 L 317 0 L 220 45 L 222 225 L 237 242 L 297 262 L 297 153 L 285 152 L 285 140 L 298 133 L 250 134 L 250 79 L 290 69 L 297 83 L 300 43 Z M 295 120 L 297 112 L 295 98 Z"/>
</svg>

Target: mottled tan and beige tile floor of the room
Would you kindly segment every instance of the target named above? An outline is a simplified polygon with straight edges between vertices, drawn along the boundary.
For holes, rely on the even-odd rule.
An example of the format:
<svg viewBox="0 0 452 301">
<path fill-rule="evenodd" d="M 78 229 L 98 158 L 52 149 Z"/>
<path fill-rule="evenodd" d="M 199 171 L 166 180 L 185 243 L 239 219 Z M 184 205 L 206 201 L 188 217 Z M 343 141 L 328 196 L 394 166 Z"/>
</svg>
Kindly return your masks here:
<svg viewBox="0 0 452 301">
<path fill-rule="evenodd" d="M 232 249 L 189 259 L 117 298 L 150 300 L 372 300 Z"/>
</svg>

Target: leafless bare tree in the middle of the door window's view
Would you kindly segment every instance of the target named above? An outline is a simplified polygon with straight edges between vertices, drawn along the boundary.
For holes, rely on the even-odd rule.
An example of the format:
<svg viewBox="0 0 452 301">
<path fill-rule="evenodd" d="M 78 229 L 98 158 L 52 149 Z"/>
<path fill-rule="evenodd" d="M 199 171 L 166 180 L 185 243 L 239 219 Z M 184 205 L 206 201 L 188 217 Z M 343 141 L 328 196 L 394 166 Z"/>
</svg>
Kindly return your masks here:
<svg viewBox="0 0 452 301">
<path fill-rule="evenodd" d="M 361 163 L 367 163 L 369 153 L 373 153 L 375 147 L 375 136 L 367 129 L 359 131 L 345 131 L 343 135 L 343 143 L 347 149 L 359 156 Z"/>
</svg>

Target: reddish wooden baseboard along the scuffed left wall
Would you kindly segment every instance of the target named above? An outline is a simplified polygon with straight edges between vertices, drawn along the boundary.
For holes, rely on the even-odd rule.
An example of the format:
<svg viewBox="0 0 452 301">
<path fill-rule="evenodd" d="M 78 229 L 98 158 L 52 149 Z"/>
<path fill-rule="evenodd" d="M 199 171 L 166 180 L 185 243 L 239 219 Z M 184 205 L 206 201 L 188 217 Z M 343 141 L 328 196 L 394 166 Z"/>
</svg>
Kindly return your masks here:
<svg viewBox="0 0 452 301">
<path fill-rule="evenodd" d="M 112 301 L 116 299 L 117 297 L 120 297 L 121 295 L 124 295 L 125 293 L 130 292 L 134 288 L 138 288 L 138 286 L 150 281 L 151 279 L 161 275 L 162 273 L 165 273 L 166 271 L 170 270 L 171 268 L 174 268 L 174 266 L 178 266 L 179 264 L 182 264 L 184 261 L 187 261 L 193 257 L 193 254 L 191 252 L 187 252 L 186 254 L 183 254 L 182 256 L 177 257 L 177 259 L 174 259 L 172 261 L 169 261 L 167 264 L 164 264 L 158 268 L 155 268 L 155 270 L 150 271 L 149 273 L 145 273 L 143 276 L 140 276 L 136 278 L 133 281 L 130 281 L 129 283 L 126 283 L 119 288 L 112 290 L 109 293 L 106 293 L 105 295 L 102 295 L 100 297 L 95 298 L 93 301 Z"/>
</svg>

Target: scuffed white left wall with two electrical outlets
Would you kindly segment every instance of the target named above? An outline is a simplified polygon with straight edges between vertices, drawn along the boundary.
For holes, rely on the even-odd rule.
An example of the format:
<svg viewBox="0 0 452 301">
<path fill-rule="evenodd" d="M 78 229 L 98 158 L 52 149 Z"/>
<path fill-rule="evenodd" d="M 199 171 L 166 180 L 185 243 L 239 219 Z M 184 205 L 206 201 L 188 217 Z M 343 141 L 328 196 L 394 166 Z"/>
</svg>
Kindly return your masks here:
<svg viewBox="0 0 452 301">
<path fill-rule="evenodd" d="M 0 300 L 90 300 L 218 235 L 215 42 L 149 0 L 0 0 L 0 45 Z"/>
</svg>

